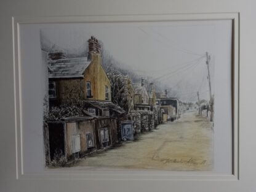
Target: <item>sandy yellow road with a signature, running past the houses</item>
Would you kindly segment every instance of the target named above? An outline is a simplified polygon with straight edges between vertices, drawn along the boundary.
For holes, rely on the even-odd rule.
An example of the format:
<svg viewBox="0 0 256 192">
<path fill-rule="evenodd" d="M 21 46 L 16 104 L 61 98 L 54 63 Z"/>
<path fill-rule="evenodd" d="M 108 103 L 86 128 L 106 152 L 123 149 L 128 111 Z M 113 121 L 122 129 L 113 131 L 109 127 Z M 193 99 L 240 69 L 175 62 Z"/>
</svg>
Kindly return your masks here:
<svg viewBox="0 0 256 192">
<path fill-rule="evenodd" d="M 186 112 L 137 140 L 79 159 L 76 169 L 158 169 L 209 171 L 213 159 L 213 129 L 206 117 Z M 74 167 L 73 167 L 74 168 Z"/>
</svg>

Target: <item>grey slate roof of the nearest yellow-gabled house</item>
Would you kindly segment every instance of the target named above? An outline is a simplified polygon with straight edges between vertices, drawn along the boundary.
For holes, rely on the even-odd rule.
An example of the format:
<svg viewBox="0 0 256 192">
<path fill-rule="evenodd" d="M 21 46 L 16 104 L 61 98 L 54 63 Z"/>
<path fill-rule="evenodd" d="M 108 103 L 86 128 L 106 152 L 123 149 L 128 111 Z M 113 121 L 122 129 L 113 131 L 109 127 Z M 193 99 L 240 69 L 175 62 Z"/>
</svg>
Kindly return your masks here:
<svg viewBox="0 0 256 192">
<path fill-rule="evenodd" d="M 49 60 L 49 78 L 82 78 L 90 62 L 86 57 Z"/>
</svg>

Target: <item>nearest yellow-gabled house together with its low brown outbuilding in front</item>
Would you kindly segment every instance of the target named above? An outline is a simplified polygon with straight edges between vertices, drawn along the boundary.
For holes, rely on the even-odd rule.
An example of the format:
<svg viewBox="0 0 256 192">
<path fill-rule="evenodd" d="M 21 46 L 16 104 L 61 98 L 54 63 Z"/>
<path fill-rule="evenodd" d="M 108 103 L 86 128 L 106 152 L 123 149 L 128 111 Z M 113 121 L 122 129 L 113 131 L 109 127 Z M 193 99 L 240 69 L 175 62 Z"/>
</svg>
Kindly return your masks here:
<svg viewBox="0 0 256 192">
<path fill-rule="evenodd" d="M 50 112 L 60 109 L 60 117 L 49 118 L 46 130 L 49 162 L 60 155 L 68 159 L 94 152 L 118 140 L 116 117 L 125 111 L 111 102 L 111 84 L 102 67 L 100 43 L 92 36 L 88 45 L 84 58 L 49 53 Z M 76 106 L 76 115 L 65 105 Z M 68 111 L 65 117 L 62 109 Z"/>
</svg>

